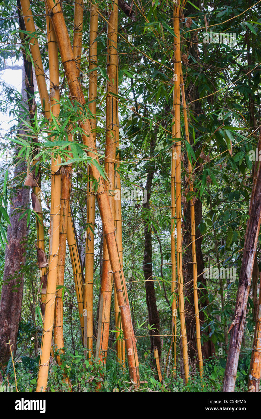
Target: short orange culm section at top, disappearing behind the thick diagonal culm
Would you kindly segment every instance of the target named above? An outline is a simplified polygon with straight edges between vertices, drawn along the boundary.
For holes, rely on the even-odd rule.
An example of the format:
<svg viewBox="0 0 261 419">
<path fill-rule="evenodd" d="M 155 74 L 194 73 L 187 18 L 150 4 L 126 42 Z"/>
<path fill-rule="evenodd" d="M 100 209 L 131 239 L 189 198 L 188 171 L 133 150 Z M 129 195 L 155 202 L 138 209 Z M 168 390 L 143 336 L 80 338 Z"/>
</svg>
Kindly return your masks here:
<svg viewBox="0 0 261 419">
<path fill-rule="evenodd" d="M 72 52 L 80 75 L 80 64 L 82 56 L 82 39 L 83 39 L 83 0 L 75 0 L 74 2 L 74 18 L 73 18 L 73 40 Z"/>
</svg>

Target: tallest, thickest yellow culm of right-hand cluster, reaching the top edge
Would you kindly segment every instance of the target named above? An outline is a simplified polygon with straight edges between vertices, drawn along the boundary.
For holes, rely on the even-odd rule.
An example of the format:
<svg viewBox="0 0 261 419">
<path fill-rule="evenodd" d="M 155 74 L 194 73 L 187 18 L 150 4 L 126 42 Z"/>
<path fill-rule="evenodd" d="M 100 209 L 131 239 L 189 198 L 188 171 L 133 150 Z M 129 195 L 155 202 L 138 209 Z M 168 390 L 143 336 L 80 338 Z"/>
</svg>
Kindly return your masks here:
<svg viewBox="0 0 261 419">
<path fill-rule="evenodd" d="M 188 344 L 186 337 L 185 326 L 185 312 L 184 312 L 184 291 L 183 291 L 183 273 L 182 273 L 182 230 L 181 230 L 181 123 L 180 123 L 180 84 L 181 84 L 181 51 L 180 51 L 180 28 L 179 28 L 179 11 L 180 0 L 178 3 L 173 3 L 173 29 L 174 29 L 174 57 L 175 65 L 174 72 L 176 75 L 174 85 L 174 118 L 175 118 L 175 139 L 176 142 L 176 155 L 175 155 L 175 184 L 176 184 L 176 220 L 177 220 L 177 274 L 178 274 L 178 298 L 179 298 L 179 314 L 181 322 L 181 343 L 183 352 L 183 365 L 185 382 L 189 381 L 189 360 L 188 360 Z"/>
</svg>

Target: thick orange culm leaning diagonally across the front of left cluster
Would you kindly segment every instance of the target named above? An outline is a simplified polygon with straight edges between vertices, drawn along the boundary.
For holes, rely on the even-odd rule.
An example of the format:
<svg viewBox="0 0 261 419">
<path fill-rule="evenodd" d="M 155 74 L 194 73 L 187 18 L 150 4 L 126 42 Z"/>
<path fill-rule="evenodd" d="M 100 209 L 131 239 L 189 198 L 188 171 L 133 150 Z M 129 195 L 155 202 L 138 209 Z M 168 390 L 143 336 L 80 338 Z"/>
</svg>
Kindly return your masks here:
<svg viewBox="0 0 261 419">
<path fill-rule="evenodd" d="M 64 16 L 62 14 L 61 5 L 58 1 L 55 5 L 52 0 L 47 0 L 47 5 L 51 12 L 51 18 L 54 26 L 54 30 L 57 35 L 57 41 L 59 50 L 62 58 L 62 64 L 65 69 L 65 75 L 67 83 L 69 85 L 70 95 L 75 98 L 81 105 L 85 105 L 85 99 L 83 92 L 77 78 L 77 69 L 75 59 L 72 53 L 72 47 L 70 44 L 69 34 L 65 25 Z M 91 125 L 89 119 L 85 116 L 84 109 L 79 107 L 81 118 L 79 119 L 80 127 L 82 128 L 83 142 L 88 147 L 88 156 L 93 161 L 98 163 L 97 150 L 93 135 L 91 133 Z M 104 188 L 103 180 L 101 179 L 100 173 L 95 166 L 91 163 L 91 174 L 93 178 L 98 182 L 97 191 L 97 202 L 101 213 L 101 219 L 103 222 L 103 230 L 106 237 L 106 243 L 108 246 L 109 257 L 111 261 L 111 269 L 114 274 L 114 281 L 116 285 L 116 292 L 121 310 L 121 321 L 123 326 L 124 339 L 127 347 L 127 357 L 129 363 L 130 377 L 134 383 L 139 384 L 139 364 L 137 356 L 136 341 L 134 337 L 134 331 L 132 326 L 131 313 L 129 308 L 129 299 L 127 295 L 127 287 L 124 279 L 123 269 L 120 262 L 116 234 L 114 228 L 114 219 L 111 214 L 109 205 L 109 197 Z"/>
</svg>

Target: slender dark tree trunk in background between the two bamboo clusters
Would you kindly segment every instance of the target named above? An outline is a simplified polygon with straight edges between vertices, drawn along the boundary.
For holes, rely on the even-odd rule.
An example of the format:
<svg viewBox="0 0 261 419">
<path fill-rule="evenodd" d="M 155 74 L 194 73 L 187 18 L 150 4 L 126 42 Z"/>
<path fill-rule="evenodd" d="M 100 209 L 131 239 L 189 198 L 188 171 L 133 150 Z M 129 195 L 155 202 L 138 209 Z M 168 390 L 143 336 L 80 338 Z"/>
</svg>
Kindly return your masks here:
<svg viewBox="0 0 261 419">
<path fill-rule="evenodd" d="M 155 133 L 152 133 L 152 139 L 150 143 L 150 154 L 153 155 L 155 148 Z M 160 344 L 160 318 L 156 303 L 156 294 L 153 281 L 153 272 L 152 272 L 152 236 L 151 236 L 151 226 L 149 223 L 150 218 L 150 196 L 152 191 L 152 181 L 155 173 L 155 163 L 152 161 L 147 167 L 147 181 L 146 181 L 146 191 L 147 191 L 147 200 L 142 204 L 145 215 L 144 219 L 144 256 L 143 256 L 143 272 L 145 277 L 145 290 L 146 290 L 146 303 L 149 313 L 149 324 L 155 329 L 150 330 L 150 343 L 151 351 L 153 354 L 154 349 L 158 349 L 158 356 L 160 359 L 161 354 L 161 344 Z"/>
</svg>

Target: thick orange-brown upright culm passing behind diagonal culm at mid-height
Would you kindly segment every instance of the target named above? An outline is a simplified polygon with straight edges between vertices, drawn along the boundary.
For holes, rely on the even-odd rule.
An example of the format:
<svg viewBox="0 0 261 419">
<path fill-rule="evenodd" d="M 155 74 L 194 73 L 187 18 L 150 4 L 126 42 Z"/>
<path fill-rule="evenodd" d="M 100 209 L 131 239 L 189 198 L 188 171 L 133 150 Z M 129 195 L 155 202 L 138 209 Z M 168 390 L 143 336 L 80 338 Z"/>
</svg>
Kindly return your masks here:
<svg viewBox="0 0 261 419">
<path fill-rule="evenodd" d="M 114 217 L 114 170 L 116 161 L 116 142 L 119 138 L 119 124 L 117 118 L 118 94 L 118 53 L 117 53 L 118 6 L 117 0 L 109 6 L 109 19 L 107 31 L 107 96 L 106 96 L 106 144 L 105 144 L 105 173 L 108 181 L 105 182 L 109 196 L 111 213 Z M 103 240 L 103 266 L 101 278 L 101 318 L 98 323 L 96 358 L 106 363 L 109 326 L 111 311 L 111 293 L 113 276 L 106 241 Z"/>
</svg>

